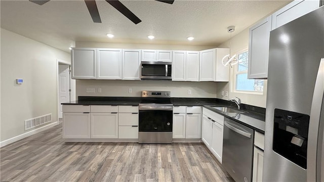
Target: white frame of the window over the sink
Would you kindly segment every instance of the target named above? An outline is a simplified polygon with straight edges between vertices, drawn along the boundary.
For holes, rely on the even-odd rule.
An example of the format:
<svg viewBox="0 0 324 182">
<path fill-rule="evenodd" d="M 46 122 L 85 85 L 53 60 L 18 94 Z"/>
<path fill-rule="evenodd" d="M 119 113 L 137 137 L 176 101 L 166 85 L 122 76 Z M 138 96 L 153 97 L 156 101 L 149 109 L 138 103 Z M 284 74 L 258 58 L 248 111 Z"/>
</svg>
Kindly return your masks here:
<svg viewBox="0 0 324 182">
<path fill-rule="evenodd" d="M 239 51 L 237 51 L 235 54 L 238 57 L 239 54 L 244 53 L 244 52 L 248 52 L 249 49 L 245 48 L 245 49 L 241 49 Z M 231 84 L 231 90 L 234 93 L 244 93 L 244 94 L 253 94 L 253 95 L 263 95 L 264 93 L 264 84 L 263 84 L 263 91 L 242 91 L 242 90 L 236 90 L 236 75 L 238 74 L 248 74 L 248 70 L 246 71 L 237 71 L 237 67 L 238 67 L 238 63 L 235 64 L 231 69 L 232 71 L 232 84 Z M 264 83 L 264 81 L 263 81 Z"/>
</svg>

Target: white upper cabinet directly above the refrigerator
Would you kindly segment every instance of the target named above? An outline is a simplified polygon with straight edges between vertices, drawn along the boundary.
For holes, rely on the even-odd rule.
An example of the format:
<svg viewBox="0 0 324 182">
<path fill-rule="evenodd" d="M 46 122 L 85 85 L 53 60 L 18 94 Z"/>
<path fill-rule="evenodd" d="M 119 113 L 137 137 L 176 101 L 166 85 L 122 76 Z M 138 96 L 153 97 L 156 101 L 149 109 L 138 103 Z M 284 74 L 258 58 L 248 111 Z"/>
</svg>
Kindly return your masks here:
<svg viewBox="0 0 324 182">
<path fill-rule="evenodd" d="M 272 14 L 272 30 L 319 7 L 319 0 L 293 1 Z"/>
</svg>

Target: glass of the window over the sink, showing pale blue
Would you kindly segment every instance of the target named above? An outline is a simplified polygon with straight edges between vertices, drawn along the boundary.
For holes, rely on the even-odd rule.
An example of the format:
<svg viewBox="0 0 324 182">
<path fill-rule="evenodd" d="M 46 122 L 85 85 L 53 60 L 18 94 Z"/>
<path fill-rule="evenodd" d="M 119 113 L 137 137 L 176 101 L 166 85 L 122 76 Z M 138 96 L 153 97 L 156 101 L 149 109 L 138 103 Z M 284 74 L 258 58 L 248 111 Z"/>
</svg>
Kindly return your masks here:
<svg viewBox="0 0 324 182">
<path fill-rule="evenodd" d="M 235 90 L 263 92 L 263 80 L 248 79 L 249 51 L 237 55 L 235 66 Z"/>
</svg>

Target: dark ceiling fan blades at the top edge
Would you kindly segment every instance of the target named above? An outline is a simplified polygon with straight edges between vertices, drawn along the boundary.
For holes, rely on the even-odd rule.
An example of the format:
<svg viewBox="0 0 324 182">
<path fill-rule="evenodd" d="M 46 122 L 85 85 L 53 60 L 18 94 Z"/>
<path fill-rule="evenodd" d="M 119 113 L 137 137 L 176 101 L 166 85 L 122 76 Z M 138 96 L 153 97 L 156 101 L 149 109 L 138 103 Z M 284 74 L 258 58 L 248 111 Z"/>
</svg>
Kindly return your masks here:
<svg viewBox="0 0 324 182">
<path fill-rule="evenodd" d="M 44 0 L 29 0 L 32 3 L 35 3 L 37 5 L 44 5 L 45 3 L 49 2 L 50 0 L 44 1 Z M 168 3 L 173 4 L 173 1 L 163 1 L 163 0 L 155 0 L 162 3 Z M 109 3 L 111 6 L 113 6 L 116 10 L 118 10 L 121 14 L 126 16 L 128 19 L 130 19 L 133 23 L 138 24 L 142 20 L 140 20 L 131 10 L 126 8 L 123 4 L 121 4 L 120 1 L 117 0 L 106 0 L 107 3 Z M 91 18 L 93 22 L 95 23 L 101 23 L 100 15 L 98 12 L 96 1 L 94 0 L 85 0 L 85 3 L 87 5 L 87 8 L 89 10 L 89 13 L 91 15 Z"/>
</svg>

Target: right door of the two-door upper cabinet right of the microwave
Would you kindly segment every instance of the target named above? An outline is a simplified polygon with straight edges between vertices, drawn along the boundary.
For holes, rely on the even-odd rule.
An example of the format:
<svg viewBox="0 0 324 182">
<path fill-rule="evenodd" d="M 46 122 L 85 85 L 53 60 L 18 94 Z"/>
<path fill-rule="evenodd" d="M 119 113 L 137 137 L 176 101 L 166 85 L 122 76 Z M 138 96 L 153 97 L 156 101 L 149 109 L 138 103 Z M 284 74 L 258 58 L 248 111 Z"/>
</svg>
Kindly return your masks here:
<svg viewBox="0 0 324 182">
<path fill-rule="evenodd" d="M 199 81 L 199 51 L 187 51 L 186 53 L 186 81 Z"/>
</svg>

